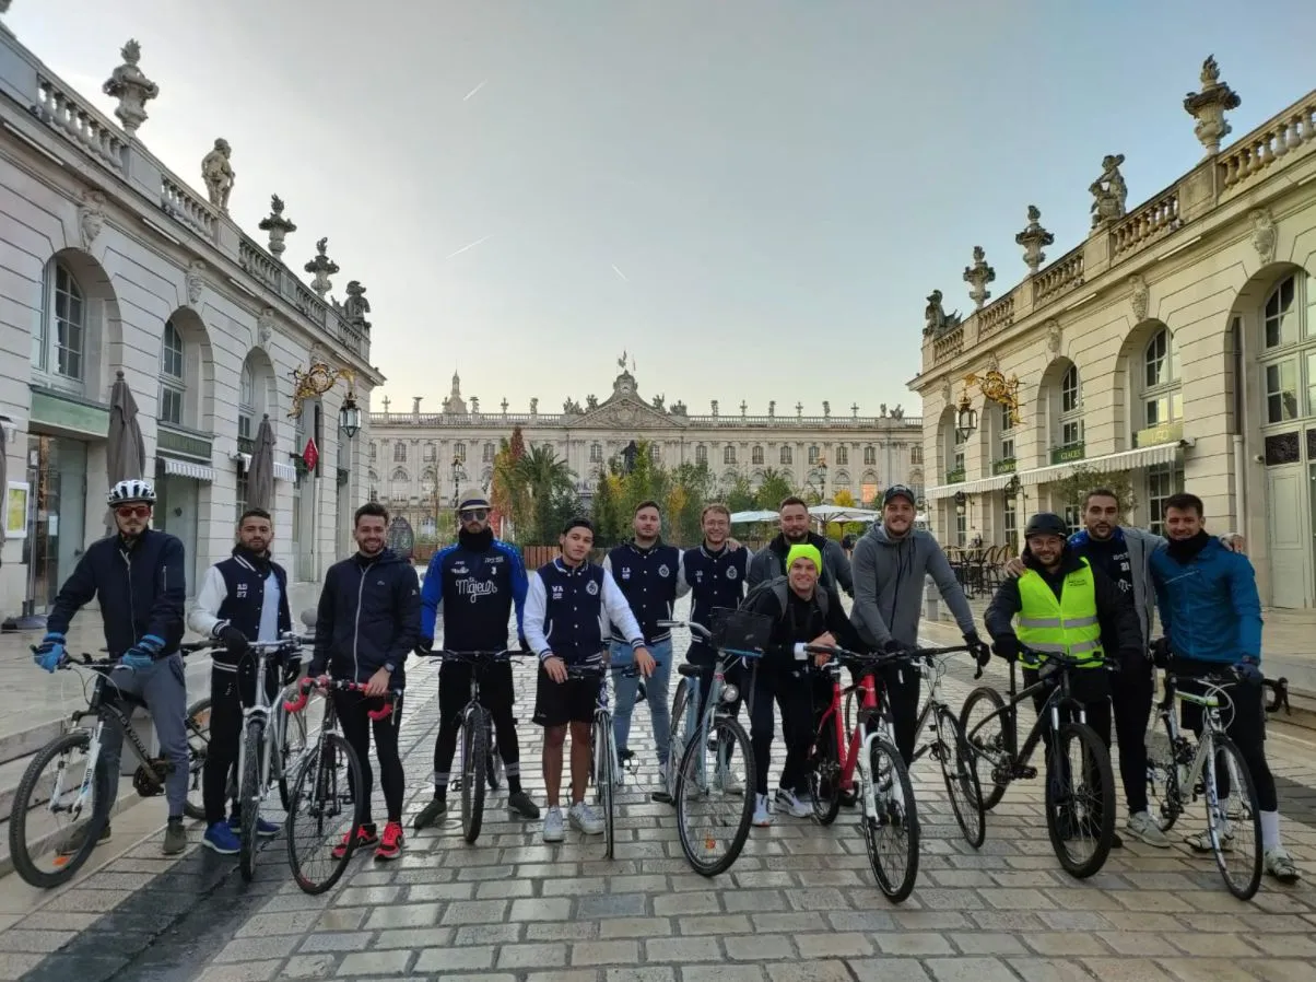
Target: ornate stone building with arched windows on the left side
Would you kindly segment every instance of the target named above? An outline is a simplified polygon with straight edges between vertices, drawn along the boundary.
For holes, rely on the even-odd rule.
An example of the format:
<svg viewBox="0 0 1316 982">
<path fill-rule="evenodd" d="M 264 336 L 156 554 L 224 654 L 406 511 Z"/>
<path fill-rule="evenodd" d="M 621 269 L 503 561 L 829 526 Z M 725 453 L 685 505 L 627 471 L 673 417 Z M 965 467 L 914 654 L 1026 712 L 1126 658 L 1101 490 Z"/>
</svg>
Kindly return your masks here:
<svg viewBox="0 0 1316 982">
<path fill-rule="evenodd" d="M 382 382 L 363 288 L 349 284 L 341 305 L 328 296 L 337 266 L 324 241 L 307 263 L 311 286 L 284 265 L 296 225 L 278 197 L 261 222 L 267 244 L 233 222 L 224 140 L 201 163 L 205 194 L 153 157 L 142 130 L 159 87 L 137 42 L 121 54 L 105 83 L 116 122 L 0 25 L 3 617 L 45 612 L 105 533 L 108 400 L 120 375 L 139 411 L 145 475 L 157 480 L 155 524 L 183 540 L 190 591 L 233 545 L 262 416 L 276 440 L 275 557 L 295 579 L 320 579 L 366 498 L 359 441 L 336 425 L 349 386 L 303 388 L 303 412 L 288 419 L 295 370 L 328 366 L 362 401 Z M 297 466 L 312 436 L 318 475 Z"/>
</svg>

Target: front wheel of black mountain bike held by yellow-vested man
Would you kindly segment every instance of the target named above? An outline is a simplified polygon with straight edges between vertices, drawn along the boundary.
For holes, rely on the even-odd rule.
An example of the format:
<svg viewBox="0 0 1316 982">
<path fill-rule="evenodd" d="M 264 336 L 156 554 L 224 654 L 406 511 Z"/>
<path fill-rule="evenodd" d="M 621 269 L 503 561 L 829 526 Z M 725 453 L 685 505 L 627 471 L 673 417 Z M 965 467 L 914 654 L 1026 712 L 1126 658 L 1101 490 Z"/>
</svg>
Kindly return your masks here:
<svg viewBox="0 0 1316 982">
<path fill-rule="evenodd" d="M 1086 879 L 1101 869 L 1115 841 L 1111 754 L 1086 723 L 1062 723 L 1046 746 L 1046 831 L 1065 871 Z"/>
</svg>

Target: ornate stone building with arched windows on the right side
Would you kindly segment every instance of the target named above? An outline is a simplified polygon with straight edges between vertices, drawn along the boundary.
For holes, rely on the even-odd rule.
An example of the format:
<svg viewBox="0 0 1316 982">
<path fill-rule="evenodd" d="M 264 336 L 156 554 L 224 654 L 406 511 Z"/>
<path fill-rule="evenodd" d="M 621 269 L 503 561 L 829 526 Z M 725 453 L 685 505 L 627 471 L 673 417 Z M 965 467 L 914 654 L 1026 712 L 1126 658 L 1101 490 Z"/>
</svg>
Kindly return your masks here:
<svg viewBox="0 0 1316 982">
<path fill-rule="evenodd" d="M 929 517 L 946 541 L 1019 544 L 1026 516 L 1069 511 L 1075 467 L 1124 471 L 1129 520 L 1199 495 L 1242 530 L 1266 603 L 1316 603 L 1316 92 L 1221 147 L 1238 96 L 1213 59 L 1184 109 L 1204 158 L 1126 208 L 1125 157 L 1088 188 L 1086 241 L 1045 263 L 1029 207 L 1028 274 L 992 299 L 974 249 L 974 304 L 928 297 L 923 370 Z M 1129 170 L 1136 166 L 1130 155 Z M 969 412 L 963 412 L 963 411 Z"/>
</svg>

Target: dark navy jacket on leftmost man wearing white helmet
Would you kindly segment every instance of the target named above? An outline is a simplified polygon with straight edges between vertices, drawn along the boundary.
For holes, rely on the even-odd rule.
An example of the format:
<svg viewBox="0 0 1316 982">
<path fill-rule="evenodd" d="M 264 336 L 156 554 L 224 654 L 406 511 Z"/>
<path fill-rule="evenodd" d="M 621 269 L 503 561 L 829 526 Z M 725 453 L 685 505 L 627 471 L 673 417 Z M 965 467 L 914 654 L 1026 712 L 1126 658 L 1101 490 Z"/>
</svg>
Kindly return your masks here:
<svg viewBox="0 0 1316 982">
<path fill-rule="evenodd" d="M 164 638 L 161 657 L 183 641 L 183 544 L 167 532 L 146 529 L 125 546 L 116 533 L 87 546 L 74 574 L 59 588 L 46 617 L 46 631 L 63 634 L 68 621 L 93 599 L 100 600 L 105 646 L 117 658 L 146 634 Z"/>
</svg>

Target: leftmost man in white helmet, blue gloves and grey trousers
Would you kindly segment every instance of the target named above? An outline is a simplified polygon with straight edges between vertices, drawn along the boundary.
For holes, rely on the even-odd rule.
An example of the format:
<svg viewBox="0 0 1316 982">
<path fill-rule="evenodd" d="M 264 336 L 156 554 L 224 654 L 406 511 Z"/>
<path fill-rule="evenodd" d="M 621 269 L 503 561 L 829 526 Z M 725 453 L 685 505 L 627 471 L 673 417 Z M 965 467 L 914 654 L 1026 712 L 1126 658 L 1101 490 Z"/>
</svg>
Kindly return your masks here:
<svg viewBox="0 0 1316 982">
<path fill-rule="evenodd" d="M 120 691 L 139 696 L 155 724 L 161 756 L 171 770 L 164 781 L 168 824 L 163 852 L 175 856 L 187 848 L 183 806 L 187 804 L 187 683 L 183 673 L 183 606 L 187 584 L 183 578 L 183 544 L 167 532 L 150 528 L 155 488 L 149 480 L 120 480 L 105 498 L 114 512 L 117 533 L 87 546 L 74 574 L 64 582 L 46 619 L 46 636 L 37 648 L 36 662 L 54 671 L 67 657 L 64 633 L 68 624 L 92 599 L 100 602 L 109 657 L 118 659 L 111 682 Z M 103 733 L 101 765 L 111 774 L 109 804 L 118 790 L 118 761 L 124 735 L 116 727 Z M 87 827 L 74 831 L 59 848 L 61 854 L 78 853 Z M 100 841 L 109 839 L 109 823 Z"/>
</svg>

